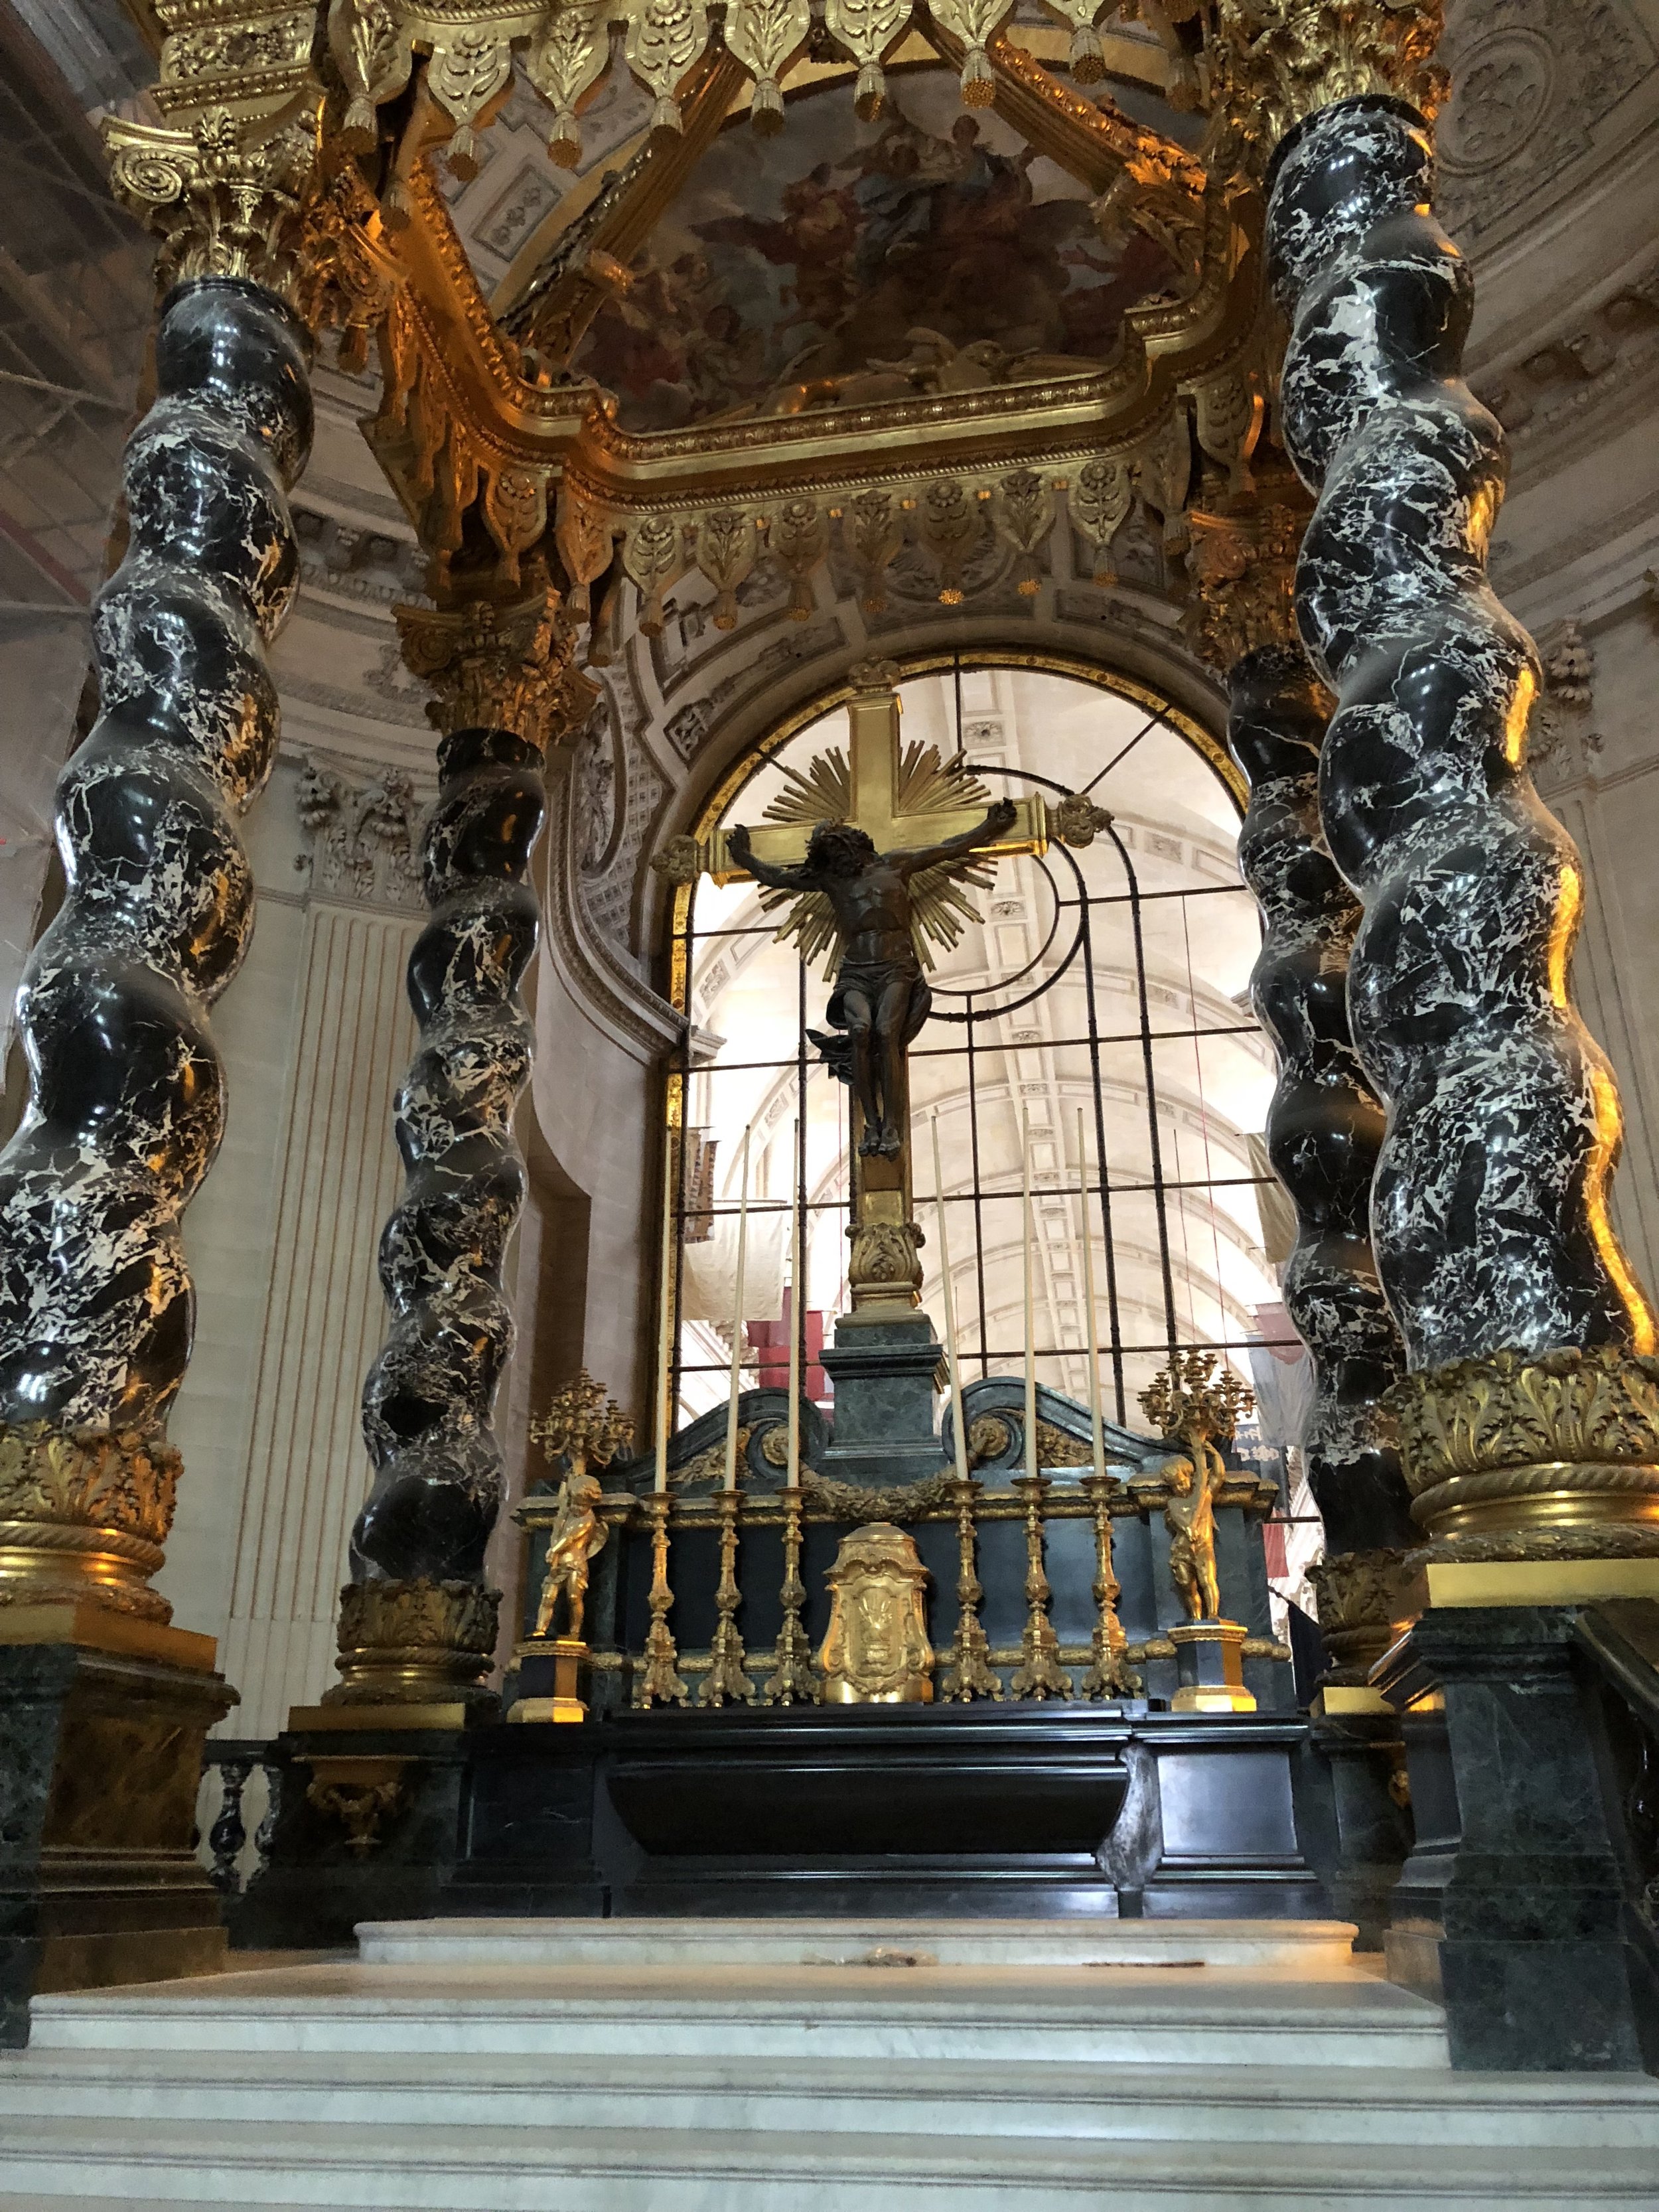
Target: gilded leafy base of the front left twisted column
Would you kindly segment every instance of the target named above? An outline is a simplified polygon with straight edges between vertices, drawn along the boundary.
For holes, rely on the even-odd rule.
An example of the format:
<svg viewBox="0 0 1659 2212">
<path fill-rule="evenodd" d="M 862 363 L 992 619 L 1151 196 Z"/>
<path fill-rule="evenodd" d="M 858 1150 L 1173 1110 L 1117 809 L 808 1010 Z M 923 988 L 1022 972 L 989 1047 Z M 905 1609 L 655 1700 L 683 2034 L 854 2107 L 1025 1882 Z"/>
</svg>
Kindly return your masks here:
<svg viewBox="0 0 1659 2212">
<path fill-rule="evenodd" d="M 155 1436 L 0 1429 L 0 1608 L 97 1606 L 159 1628 L 173 1606 L 150 1588 L 166 1559 L 179 1453 Z"/>
</svg>

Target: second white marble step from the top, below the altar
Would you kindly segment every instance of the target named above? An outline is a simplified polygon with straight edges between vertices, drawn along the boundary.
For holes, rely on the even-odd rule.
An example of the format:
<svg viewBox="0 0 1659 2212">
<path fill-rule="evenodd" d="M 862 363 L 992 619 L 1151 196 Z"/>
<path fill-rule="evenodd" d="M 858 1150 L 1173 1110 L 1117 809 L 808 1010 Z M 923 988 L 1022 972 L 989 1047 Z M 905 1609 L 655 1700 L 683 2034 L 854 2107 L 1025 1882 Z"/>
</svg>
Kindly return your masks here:
<svg viewBox="0 0 1659 2212">
<path fill-rule="evenodd" d="M 38 1997 L 51 2051 L 489 2053 L 754 2064 L 1367 2066 L 1447 2064 L 1440 2008 L 1367 1973 L 1272 1969 L 319 1964 Z M 637 2077 L 637 2075 L 635 2075 Z"/>
</svg>

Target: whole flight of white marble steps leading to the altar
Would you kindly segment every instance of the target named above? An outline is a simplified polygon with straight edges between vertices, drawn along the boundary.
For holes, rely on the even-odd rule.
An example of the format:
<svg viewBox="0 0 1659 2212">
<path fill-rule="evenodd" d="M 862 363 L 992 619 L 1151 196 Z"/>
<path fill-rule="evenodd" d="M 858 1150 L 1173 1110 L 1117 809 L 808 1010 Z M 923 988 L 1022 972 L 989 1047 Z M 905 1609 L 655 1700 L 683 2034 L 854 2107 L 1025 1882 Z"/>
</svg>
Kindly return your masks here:
<svg viewBox="0 0 1659 2212">
<path fill-rule="evenodd" d="M 420 1922 L 35 2004 L 0 2212 L 1659 2212 L 1659 2084 L 1453 2075 L 1338 1924 Z"/>
</svg>

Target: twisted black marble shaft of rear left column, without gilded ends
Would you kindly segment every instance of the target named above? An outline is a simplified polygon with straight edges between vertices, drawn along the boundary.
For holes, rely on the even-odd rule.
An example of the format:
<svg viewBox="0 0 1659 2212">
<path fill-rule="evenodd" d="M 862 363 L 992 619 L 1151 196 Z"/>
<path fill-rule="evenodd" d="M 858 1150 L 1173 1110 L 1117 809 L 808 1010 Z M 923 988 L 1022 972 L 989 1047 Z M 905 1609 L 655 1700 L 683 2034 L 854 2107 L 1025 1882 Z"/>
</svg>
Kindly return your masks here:
<svg viewBox="0 0 1659 2212">
<path fill-rule="evenodd" d="M 420 1048 L 396 1106 L 407 1183 L 380 1237 L 392 1334 L 363 1387 L 376 1473 L 352 1531 L 356 1582 L 478 1584 L 502 1491 L 491 1407 L 513 1349 L 502 1256 L 524 1203 L 513 1113 L 533 1031 L 518 987 L 538 938 L 526 874 L 542 748 L 460 728 L 438 770 L 420 854 L 431 920 L 409 956 Z"/>
</svg>

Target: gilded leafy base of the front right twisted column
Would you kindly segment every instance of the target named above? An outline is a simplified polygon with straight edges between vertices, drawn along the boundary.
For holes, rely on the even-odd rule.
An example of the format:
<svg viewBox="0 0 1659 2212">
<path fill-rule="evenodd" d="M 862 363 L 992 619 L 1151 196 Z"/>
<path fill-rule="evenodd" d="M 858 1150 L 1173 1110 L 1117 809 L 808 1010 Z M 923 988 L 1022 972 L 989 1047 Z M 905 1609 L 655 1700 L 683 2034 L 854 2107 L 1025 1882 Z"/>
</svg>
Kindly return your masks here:
<svg viewBox="0 0 1659 2212">
<path fill-rule="evenodd" d="M 1659 1358 L 1498 1352 L 1389 1398 L 1429 1540 L 1413 1566 L 1659 1557 Z"/>
</svg>

